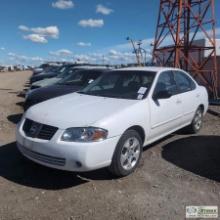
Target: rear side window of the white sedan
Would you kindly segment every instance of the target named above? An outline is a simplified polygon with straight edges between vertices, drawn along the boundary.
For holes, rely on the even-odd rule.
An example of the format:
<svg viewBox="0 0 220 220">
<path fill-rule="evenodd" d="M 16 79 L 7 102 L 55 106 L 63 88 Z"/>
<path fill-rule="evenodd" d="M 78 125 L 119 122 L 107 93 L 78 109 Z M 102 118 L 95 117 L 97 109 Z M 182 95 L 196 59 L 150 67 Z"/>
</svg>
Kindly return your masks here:
<svg viewBox="0 0 220 220">
<path fill-rule="evenodd" d="M 180 93 L 192 91 L 196 88 L 195 83 L 186 74 L 175 71 L 174 77 Z"/>
</svg>

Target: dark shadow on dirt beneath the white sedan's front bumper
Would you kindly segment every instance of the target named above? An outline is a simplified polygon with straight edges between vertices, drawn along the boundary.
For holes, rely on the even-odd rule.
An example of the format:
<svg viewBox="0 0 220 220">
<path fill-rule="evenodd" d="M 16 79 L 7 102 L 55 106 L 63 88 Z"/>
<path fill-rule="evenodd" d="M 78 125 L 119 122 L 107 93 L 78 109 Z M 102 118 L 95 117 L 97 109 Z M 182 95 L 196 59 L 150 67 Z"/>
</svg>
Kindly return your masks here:
<svg viewBox="0 0 220 220">
<path fill-rule="evenodd" d="M 56 170 L 34 163 L 21 155 L 16 143 L 0 147 L 0 176 L 20 185 L 59 190 L 85 184 L 90 180 L 112 180 L 107 169 L 74 173 Z"/>
</svg>

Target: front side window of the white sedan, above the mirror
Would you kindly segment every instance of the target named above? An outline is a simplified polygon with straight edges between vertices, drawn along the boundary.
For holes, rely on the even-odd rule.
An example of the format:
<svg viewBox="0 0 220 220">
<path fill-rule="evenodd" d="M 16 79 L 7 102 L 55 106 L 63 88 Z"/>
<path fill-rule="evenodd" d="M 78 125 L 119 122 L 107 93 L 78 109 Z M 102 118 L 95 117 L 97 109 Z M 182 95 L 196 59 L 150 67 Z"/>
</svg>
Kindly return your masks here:
<svg viewBox="0 0 220 220">
<path fill-rule="evenodd" d="M 172 71 L 166 71 L 160 74 L 155 90 L 154 95 L 159 93 L 167 91 L 171 93 L 172 95 L 177 94 L 177 85 L 174 80 L 174 75 Z"/>
</svg>

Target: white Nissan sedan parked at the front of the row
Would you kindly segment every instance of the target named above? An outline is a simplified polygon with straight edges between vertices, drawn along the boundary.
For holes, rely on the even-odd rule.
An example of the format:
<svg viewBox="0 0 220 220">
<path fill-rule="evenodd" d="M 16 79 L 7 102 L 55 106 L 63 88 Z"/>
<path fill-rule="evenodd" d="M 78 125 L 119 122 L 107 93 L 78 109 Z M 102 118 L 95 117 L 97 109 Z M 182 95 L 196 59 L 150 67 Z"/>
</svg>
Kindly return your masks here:
<svg viewBox="0 0 220 220">
<path fill-rule="evenodd" d="M 30 108 L 17 127 L 17 146 L 48 167 L 109 167 L 126 176 L 144 146 L 184 127 L 198 132 L 207 109 L 206 89 L 180 69 L 119 69 L 78 93 Z"/>
</svg>

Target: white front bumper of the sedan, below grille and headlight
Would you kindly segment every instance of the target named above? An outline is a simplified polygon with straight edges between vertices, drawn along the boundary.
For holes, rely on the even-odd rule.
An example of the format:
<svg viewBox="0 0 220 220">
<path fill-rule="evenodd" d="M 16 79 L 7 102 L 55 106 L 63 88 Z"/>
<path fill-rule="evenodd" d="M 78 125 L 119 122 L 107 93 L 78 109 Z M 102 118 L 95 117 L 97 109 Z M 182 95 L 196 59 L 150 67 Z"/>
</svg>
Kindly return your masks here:
<svg viewBox="0 0 220 220">
<path fill-rule="evenodd" d="M 58 130 L 50 141 L 26 137 L 21 127 L 16 139 L 19 151 L 28 159 L 47 167 L 84 172 L 111 164 L 120 136 L 94 143 L 68 143 L 60 140 L 63 130 Z"/>
</svg>

